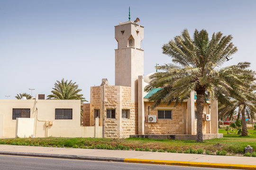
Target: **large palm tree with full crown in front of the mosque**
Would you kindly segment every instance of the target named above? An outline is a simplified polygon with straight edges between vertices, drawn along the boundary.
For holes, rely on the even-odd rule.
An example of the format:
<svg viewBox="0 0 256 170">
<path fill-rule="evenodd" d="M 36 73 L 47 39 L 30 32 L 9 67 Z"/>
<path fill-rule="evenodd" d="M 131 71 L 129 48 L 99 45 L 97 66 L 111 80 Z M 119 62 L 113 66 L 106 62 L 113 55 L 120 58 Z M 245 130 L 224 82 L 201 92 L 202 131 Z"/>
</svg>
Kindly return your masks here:
<svg viewBox="0 0 256 170">
<path fill-rule="evenodd" d="M 155 101 L 153 108 L 161 102 L 177 104 L 187 99 L 192 91 L 196 92 L 197 142 L 203 142 L 205 94 L 208 93 L 210 99 L 215 100 L 219 93 L 229 95 L 232 88 L 219 76 L 220 71 L 222 76 L 226 75 L 226 70 L 219 67 L 237 51 L 231 40 L 231 35 L 222 36 L 221 32 L 213 33 L 209 39 L 206 30 L 195 30 L 191 38 L 188 30 L 184 29 L 180 36 L 163 46 L 163 53 L 172 57 L 174 64 L 157 67 L 160 72 L 150 76 L 151 82 L 146 87 L 147 91 L 162 88 L 150 98 Z"/>
</svg>

